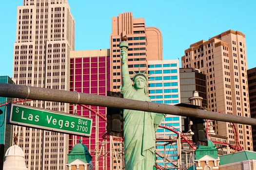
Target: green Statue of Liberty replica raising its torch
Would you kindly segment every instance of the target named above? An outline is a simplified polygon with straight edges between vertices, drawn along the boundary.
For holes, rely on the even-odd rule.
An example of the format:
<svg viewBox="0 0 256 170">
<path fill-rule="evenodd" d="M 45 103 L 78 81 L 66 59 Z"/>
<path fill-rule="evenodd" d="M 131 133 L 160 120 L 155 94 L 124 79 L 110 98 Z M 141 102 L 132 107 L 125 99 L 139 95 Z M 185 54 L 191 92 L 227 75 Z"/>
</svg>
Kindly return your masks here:
<svg viewBox="0 0 256 170">
<path fill-rule="evenodd" d="M 132 80 L 128 71 L 127 37 L 122 37 L 121 49 L 122 85 L 125 99 L 151 102 L 147 94 L 147 76 L 140 71 Z M 124 109 L 124 161 L 125 170 L 153 170 L 156 160 L 156 130 L 165 115 Z"/>
</svg>

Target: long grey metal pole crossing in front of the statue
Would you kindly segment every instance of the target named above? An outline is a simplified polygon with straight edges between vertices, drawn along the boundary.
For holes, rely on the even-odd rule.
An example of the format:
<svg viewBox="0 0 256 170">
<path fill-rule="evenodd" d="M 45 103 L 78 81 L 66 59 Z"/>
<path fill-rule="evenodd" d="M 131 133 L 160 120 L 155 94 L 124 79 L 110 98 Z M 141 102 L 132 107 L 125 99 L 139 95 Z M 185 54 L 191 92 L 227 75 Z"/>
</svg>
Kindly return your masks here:
<svg viewBox="0 0 256 170">
<path fill-rule="evenodd" d="M 256 119 L 252 118 L 222 114 L 188 107 L 173 106 L 168 104 L 129 100 L 65 90 L 32 87 L 27 85 L 12 85 L 0 83 L 0 97 L 124 108 L 146 112 L 163 113 L 167 115 L 189 116 L 200 119 L 212 119 L 256 126 Z"/>
</svg>

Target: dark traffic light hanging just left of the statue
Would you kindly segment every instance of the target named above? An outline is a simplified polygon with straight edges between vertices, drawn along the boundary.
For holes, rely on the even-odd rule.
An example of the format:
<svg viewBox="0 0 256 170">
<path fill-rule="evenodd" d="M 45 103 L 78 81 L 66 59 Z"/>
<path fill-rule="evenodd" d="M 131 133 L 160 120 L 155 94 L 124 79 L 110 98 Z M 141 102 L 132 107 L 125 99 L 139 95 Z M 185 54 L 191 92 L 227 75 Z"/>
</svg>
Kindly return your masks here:
<svg viewBox="0 0 256 170">
<path fill-rule="evenodd" d="M 121 93 L 112 91 L 107 96 L 123 98 Z M 123 109 L 107 107 L 107 134 L 123 137 Z"/>
</svg>

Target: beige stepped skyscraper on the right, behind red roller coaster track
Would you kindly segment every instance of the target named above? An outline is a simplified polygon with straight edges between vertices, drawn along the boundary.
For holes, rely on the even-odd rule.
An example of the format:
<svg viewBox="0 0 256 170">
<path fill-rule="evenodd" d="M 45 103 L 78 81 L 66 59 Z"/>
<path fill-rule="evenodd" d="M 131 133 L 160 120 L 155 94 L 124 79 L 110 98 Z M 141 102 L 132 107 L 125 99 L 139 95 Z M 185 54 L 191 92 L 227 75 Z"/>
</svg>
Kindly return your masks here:
<svg viewBox="0 0 256 170">
<path fill-rule="evenodd" d="M 206 74 L 210 111 L 250 117 L 244 34 L 229 30 L 208 41 L 191 44 L 181 64 Z M 217 135 L 228 137 L 229 143 L 237 145 L 238 138 L 245 150 L 253 151 L 251 126 L 236 124 L 237 135 L 230 123 L 214 121 L 213 126 Z"/>
</svg>

